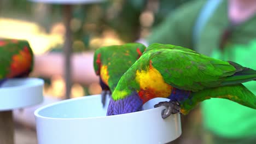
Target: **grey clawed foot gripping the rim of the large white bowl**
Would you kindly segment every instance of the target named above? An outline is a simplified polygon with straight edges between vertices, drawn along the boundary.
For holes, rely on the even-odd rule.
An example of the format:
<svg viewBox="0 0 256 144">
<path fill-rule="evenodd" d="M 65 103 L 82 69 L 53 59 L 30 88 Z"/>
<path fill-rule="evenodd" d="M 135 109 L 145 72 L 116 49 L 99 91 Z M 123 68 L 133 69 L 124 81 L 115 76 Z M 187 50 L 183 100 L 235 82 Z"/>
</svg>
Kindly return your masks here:
<svg viewBox="0 0 256 144">
<path fill-rule="evenodd" d="M 176 101 L 161 101 L 160 103 L 154 105 L 154 107 L 165 106 L 166 109 L 162 110 L 162 118 L 165 119 L 168 116 L 178 113 L 181 110 L 181 106 Z"/>
</svg>

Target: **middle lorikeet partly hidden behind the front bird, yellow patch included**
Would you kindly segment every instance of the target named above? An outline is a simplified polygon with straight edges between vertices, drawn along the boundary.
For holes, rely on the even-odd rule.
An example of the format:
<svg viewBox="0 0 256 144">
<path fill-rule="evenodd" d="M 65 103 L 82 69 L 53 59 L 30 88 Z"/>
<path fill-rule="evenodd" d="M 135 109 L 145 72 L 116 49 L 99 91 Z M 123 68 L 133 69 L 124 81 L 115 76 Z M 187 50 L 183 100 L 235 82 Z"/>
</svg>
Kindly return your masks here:
<svg viewBox="0 0 256 144">
<path fill-rule="evenodd" d="M 146 47 L 139 43 L 104 46 L 94 53 L 94 70 L 100 76 L 101 98 L 104 106 L 106 95 L 117 86 L 120 77 L 142 55 Z"/>
</svg>

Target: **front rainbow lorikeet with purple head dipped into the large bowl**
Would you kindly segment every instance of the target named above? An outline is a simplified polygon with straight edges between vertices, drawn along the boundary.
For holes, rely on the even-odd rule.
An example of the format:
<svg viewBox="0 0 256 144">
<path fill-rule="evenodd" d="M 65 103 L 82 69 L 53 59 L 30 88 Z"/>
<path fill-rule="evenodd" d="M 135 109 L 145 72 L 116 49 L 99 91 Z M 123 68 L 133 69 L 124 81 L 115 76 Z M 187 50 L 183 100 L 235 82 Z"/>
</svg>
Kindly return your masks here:
<svg viewBox="0 0 256 144">
<path fill-rule="evenodd" d="M 126 71 L 112 93 L 107 115 L 140 111 L 162 97 L 162 118 L 189 113 L 198 103 L 224 98 L 256 109 L 256 97 L 241 83 L 256 80 L 256 71 L 234 62 L 200 55 L 174 45 L 152 44 Z"/>
</svg>

